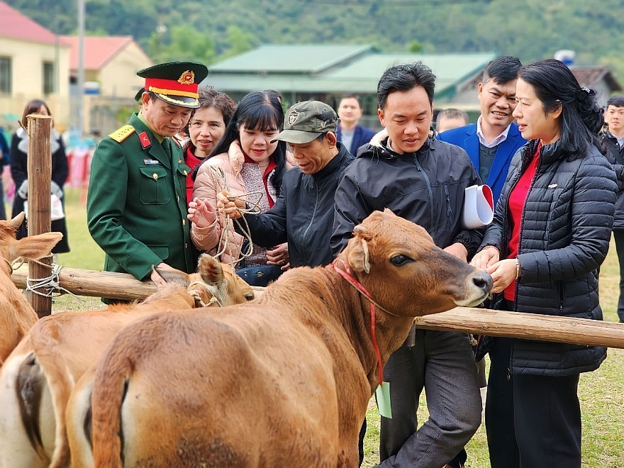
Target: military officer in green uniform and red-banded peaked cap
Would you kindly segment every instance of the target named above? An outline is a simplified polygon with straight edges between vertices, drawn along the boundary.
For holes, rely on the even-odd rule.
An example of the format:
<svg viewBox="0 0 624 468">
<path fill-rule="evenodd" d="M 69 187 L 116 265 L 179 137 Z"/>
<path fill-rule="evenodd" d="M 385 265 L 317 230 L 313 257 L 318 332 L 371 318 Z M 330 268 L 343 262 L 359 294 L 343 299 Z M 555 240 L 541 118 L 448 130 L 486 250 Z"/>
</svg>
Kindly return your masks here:
<svg viewBox="0 0 624 468">
<path fill-rule="evenodd" d="M 140 112 L 99 143 L 91 163 L 87 222 L 106 253 L 104 269 L 164 280 L 152 266 L 193 272 L 197 252 L 186 219 L 189 167 L 175 138 L 199 107 L 205 65 L 169 62 L 140 70 Z M 104 302 L 110 302 L 104 299 Z"/>
</svg>

